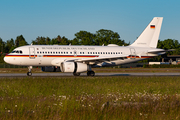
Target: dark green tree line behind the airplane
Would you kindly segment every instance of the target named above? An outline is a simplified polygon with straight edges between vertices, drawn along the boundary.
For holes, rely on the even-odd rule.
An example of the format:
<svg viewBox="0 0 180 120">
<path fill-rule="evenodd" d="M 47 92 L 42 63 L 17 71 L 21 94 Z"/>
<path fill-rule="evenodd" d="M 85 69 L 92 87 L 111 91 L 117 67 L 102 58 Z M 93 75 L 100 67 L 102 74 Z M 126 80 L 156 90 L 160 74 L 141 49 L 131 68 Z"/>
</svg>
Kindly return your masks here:
<svg viewBox="0 0 180 120">
<path fill-rule="evenodd" d="M 69 40 L 65 36 L 61 37 L 58 35 L 55 38 L 50 39 L 49 37 L 37 37 L 31 42 L 33 45 L 108 45 L 117 44 L 119 46 L 127 46 L 130 43 L 120 39 L 120 35 L 112 30 L 100 29 L 96 33 L 90 33 L 87 31 L 79 31 L 75 34 L 75 38 Z M 0 38 L 0 62 L 3 61 L 5 53 L 12 52 L 13 49 L 19 46 L 28 45 L 23 35 L 19 35 L 15 40 L 12 38 L 6 42 Z M 180 54 L 180 43 L 178 40 L 166 39 L 158 41 L 158 48 L 161 49 L 176 49 L 175 51 L 168 52 L 168 55 L 179 55 Z M 161 57 L 161 56 L 160 56 Z M 159 60 L 160 57 L 154 58 Z"/>
</svg>

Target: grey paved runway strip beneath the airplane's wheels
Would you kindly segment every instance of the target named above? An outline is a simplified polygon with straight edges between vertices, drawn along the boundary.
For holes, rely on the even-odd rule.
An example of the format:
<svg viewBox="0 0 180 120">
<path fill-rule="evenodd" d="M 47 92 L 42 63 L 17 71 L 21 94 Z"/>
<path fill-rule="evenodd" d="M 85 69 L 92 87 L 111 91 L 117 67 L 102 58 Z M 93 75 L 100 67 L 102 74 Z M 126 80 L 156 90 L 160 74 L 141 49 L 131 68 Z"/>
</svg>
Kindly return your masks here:
<svg viewBox="0 0 180 120">
<path fill-rule="evenodd" d="M 29 77 L 66 77 L 73 76 L 72 73 L 32 73 Z M 81 73 L 80 76 L 87 76 Z M 95 76 L 180 76 L 180 73 L 95 73 Z M 26 73 L 0 73 L 0 77 L 27 77 Z"/>
</svg>

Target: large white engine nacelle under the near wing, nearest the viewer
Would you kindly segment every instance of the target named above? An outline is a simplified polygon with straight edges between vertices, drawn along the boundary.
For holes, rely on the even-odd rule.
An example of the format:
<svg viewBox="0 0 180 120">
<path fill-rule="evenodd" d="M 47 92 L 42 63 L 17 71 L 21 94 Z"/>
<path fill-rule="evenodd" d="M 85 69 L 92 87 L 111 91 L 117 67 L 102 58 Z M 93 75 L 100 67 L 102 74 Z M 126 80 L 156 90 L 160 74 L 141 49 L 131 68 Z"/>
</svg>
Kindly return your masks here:
<svg viewBox="0 0 180 120">
<path fill-rule="evenodd" d="M 87 64 L 77 62 L 63 62 L 61 63 L 62 72 L 81 73 L 88 69 Z"/>
</svg>

